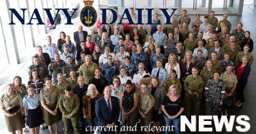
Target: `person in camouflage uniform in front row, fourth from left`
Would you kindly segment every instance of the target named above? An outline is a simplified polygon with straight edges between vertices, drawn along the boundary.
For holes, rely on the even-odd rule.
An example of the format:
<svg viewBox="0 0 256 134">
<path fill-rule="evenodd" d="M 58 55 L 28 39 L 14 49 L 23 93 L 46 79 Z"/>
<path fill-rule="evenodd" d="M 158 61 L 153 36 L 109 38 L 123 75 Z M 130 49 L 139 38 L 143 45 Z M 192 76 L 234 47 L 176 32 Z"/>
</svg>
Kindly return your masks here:
<svg viewBox="0 0 256 134">
<path fill-rule="evenodd" d="M 58 107 L 62 112 L 62 120 L 64 122 L 64 134 L 70 133 L 70 130 L 72 130 L 71 126 L 74 129 L 74 134 L 79 134 L 79 97 L 73 93 L 70 85 L 65 86 L 64 89 L 65 94 L 60 95 L 58 100 Z"/>
</svg>

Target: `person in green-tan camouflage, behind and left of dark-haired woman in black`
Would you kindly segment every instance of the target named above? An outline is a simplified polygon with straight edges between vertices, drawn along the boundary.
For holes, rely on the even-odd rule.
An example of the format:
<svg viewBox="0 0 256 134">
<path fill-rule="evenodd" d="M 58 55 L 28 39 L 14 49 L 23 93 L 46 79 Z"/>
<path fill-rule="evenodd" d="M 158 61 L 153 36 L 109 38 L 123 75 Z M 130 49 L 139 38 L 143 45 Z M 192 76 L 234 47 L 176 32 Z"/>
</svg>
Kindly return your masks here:
<svg viewBox="0 0 256 134">
<path fill-rule="evenodd" d="M 85 63 L 78 69 L 79 76 L 85 78 L 85 84 L 89 84 L 89 80 L 95 76 L 95 69 L 98 67 L 96 63 L 91 61 L 91 56 L 85 56 Z"/>
</svg>

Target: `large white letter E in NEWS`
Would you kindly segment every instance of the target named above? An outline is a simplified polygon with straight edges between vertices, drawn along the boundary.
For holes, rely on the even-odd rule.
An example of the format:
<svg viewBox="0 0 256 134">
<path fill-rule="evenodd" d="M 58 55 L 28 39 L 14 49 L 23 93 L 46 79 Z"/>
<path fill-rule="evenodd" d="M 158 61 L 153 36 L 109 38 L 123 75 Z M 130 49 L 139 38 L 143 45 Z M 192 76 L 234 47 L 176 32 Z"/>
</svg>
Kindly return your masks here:
<svg viewBox="0 0 256 134">
<path fill-rule="evenodd" d="M 199 130 L 198 131 L 213 131 L 211 127 L 204 127 L 205 125 L 211 125 L 212 116 L 199 116 L 198 124 Z"/>
</svg>

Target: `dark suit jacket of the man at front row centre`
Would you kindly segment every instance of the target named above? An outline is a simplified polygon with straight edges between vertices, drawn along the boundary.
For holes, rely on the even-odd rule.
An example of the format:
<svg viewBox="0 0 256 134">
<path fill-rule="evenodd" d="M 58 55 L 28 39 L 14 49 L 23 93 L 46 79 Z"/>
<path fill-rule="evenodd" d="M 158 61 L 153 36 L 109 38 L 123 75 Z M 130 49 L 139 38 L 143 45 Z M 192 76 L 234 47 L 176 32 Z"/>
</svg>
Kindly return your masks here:
<svg viewBox="0 0 256 134">
<path fill-rule="evenodd" d="M 98 118 L 98 126 L 106 126 L 113 122 L 117 125 L 120 113 L 120 107 L 117 97 L 111 96 L 112 110 L 108 110 L 105 97 L 101 97 L 96 101 L 95 112 Z"/>
</svg>

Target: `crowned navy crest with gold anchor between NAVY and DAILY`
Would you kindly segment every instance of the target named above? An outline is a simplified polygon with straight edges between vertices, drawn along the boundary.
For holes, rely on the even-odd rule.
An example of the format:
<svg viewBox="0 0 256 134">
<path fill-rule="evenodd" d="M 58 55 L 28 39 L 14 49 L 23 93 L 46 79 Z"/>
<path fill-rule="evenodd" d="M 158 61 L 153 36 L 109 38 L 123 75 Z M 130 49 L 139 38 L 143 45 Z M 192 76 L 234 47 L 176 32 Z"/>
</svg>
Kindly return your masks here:
<svg viewBox="0 0 256 134">
<path fill-rule="evenodd" d="M 81 23 L 87 27 L 91 27 L 96 23 L 97 12 L 93 7 L 93 1 L 85 0 L 85 7 L 81 10 L 80 20 Z"/>
</svg>

